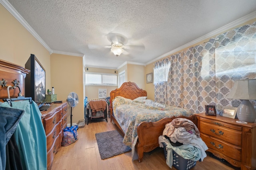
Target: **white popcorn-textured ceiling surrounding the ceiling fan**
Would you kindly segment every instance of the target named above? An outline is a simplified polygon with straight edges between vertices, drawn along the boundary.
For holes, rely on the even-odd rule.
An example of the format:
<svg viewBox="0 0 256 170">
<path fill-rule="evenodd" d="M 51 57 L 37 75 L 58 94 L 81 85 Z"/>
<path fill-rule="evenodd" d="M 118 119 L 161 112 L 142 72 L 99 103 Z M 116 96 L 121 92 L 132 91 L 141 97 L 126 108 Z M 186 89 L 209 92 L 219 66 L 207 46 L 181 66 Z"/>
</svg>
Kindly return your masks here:
<svg viewBox="0 0 256 170">
<path fill-rule="evenodd" d="M 8 2 L 53 52 L 82 54 L 87 66 L 104 68 L 118 68 L 125 61 L 149 63 L 256 11 L 256 0 Z M 119 57 L 105 48 L 111 45 L 108 33 L 127 38 L 129 48 Z"/>
</svg>

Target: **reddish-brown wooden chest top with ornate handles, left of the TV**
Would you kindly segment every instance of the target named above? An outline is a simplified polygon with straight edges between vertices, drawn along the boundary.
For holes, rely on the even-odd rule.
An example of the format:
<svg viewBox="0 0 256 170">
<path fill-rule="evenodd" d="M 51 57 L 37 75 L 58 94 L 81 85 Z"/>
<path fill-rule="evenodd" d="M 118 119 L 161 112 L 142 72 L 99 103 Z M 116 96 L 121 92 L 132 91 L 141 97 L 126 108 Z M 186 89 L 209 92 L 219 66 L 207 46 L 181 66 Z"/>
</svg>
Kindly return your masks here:
<svg viewBox="0 0 256 170">
<path fill-rule="evenodd" d="M 24 96 L 25 77 L 29 72 L 30 70 L 22 66 L 0 60 L 0 99 L 8 98 L 8 86 L 13 87 L 9 88 L 10 98 L 18 97 L 19 93 Z M 20 90 L 19 88 L 15 88 L 16 86 L 18 86 Z"/>
</svg>

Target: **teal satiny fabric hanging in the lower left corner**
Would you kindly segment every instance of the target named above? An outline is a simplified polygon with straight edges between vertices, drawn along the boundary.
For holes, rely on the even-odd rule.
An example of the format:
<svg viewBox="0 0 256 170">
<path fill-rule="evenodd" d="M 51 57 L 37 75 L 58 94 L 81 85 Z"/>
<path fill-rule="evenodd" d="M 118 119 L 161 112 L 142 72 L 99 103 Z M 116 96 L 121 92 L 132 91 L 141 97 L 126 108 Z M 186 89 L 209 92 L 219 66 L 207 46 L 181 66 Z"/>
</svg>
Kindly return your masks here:
<svg viewBox="0 0 256 170">
<path fill-rule="evenodd" d="M 1 106 L 11 107 L 7 102 Z M 12 102 L 12 108 L 25 111 L 14 132 L 22 166 L 26 170 L 46 170 L 46 135 L 37 104 L 34 101 L 30 104 L 28 100 L 22 100 Z"/>
</svg>

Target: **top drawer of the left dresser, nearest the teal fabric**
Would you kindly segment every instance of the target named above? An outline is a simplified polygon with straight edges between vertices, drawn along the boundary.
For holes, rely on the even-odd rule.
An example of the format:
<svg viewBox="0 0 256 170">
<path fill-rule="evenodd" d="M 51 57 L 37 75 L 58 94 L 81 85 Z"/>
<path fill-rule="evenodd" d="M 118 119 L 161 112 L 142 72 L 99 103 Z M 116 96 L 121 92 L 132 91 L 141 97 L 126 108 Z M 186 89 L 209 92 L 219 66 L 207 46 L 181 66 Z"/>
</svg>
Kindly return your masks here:
<svg viewBox="0 0 256 170">
<path fill-rule="evenodd" d="M 61 120 L 61 116 L 59 114 L 59 110 L 57 110 L 54 114 L 49 117 L 44 118 L 44 128 L 45 133 L 48 135 L 54 128 L 54 126 Z"/>
</svg>

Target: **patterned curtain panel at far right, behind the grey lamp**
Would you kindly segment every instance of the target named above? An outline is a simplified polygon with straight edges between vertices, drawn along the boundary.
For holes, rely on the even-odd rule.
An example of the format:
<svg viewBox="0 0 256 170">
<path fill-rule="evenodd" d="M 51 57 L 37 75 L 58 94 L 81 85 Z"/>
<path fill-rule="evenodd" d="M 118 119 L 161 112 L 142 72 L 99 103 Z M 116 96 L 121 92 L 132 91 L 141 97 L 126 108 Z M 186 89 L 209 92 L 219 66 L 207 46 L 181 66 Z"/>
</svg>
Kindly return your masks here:
<svg viewBox="0 0 256 170">
<path fill-rule="evenodd" d="M 216 107 L 238 107 L 239 99 L 226 96 L 235 80 L 256 78 L 256 22 L 218 35 L 215 41 Z M 251 100 L 256 107 L 256 100 Z"/>
</svg>

